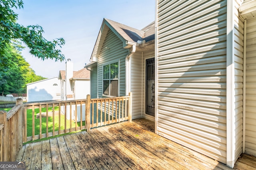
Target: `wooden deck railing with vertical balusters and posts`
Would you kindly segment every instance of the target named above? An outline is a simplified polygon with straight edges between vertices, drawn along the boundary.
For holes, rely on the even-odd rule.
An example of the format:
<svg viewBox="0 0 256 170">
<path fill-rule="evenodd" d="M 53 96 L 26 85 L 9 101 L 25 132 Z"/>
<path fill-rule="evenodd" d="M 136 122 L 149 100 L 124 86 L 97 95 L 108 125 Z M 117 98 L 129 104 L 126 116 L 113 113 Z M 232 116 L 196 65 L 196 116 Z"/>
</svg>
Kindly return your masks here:
<svg viewBox="0 0 256 170">
<path fill-rule="evenodd" d="M 22 104 L 0 111 L 0 161 L 15 161 L 22 143 L 132 120 L 132 93 L 115 98 Z"/>
</svg>

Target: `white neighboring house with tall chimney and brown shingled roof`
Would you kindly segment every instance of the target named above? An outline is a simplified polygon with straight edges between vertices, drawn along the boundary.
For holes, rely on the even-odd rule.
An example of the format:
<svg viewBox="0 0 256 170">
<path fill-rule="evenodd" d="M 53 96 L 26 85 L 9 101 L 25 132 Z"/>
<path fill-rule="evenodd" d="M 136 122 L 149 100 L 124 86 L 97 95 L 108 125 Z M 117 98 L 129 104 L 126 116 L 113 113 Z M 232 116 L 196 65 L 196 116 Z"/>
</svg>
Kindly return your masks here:
<svg viewBox="0 0 256 170">
<path fill-rule="evenodd" d="M 90 94 L 90 71 L 82 68 L 78 71 L 73 71 L 73 62 L 68 59 L 66 62 L 66 70 L 60 70 L 59 80 L 61 84 L 61 100 L 78 100 L 86 99 L 87 94 Z M 65 113 L 64 106 L 61 107 Z M 67 119 L 70 119 L 70 106 L 66 108 Z M 72 115 L 74 116 L 75 106 L 72 106 Z M 85 105 L 82 106 L 82 113 L 85 112 Z M 74 117 L 72 117 L 74 119 Z M 85 114 L 82 115 L 84 121 Z M 80 105 L 77 106 L 77 121 L 80 121 Z"/>
</svg>

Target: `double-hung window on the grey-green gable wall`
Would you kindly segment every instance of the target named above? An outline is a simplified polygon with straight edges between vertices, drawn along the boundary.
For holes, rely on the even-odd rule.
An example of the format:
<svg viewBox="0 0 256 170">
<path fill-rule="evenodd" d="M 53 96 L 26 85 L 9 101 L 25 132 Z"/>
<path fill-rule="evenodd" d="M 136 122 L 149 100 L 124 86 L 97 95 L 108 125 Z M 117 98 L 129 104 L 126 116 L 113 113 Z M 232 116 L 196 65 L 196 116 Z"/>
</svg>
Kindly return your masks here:
<svg viewBox="0 0 256 170">
<path fill-rule="evenodd" d="M 103 94 L 118 96 L 118 62 L 103 66 Z"/>
</svg>

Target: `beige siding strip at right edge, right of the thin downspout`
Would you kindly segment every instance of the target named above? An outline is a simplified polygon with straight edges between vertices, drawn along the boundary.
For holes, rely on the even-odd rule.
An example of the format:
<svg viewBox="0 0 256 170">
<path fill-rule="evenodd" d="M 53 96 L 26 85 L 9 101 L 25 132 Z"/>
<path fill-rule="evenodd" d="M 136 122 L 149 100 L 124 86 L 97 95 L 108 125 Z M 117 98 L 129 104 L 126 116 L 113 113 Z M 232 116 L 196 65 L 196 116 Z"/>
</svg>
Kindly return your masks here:
<svg viewBox="0 0 256 170">
<path fill-rule="evenodd" d="M 256 156 L 256 18 L 247 21 L 245 152 Z"/>
</svg>

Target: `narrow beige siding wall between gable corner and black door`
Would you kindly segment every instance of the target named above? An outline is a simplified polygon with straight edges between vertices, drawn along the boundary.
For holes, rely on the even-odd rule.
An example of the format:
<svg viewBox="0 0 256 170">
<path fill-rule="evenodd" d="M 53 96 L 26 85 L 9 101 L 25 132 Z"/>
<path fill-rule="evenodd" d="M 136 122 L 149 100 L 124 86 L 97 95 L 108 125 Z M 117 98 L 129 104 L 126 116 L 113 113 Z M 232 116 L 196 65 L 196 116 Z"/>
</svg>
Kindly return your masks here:
<svg viewBox="0 0 256 170">
<path fill-rule="evenodd" d="M 142 117 L 142 52 L 131 57 L 132 119 Z"/>
</svg>

